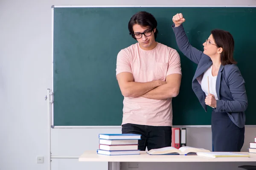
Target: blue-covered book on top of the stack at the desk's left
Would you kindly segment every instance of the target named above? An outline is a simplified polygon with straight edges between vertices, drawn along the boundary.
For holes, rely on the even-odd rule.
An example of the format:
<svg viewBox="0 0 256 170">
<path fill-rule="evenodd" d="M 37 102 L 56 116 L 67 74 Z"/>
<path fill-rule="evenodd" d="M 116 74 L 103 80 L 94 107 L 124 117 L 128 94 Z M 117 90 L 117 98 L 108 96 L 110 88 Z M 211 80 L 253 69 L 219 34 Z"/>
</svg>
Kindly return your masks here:
<svg viewBox="0 0 256 170">
<path fill-rule="evenodd" d="M 138 134 L 99 134 L 99 139 L 140 139 Z"/>
</svg>

